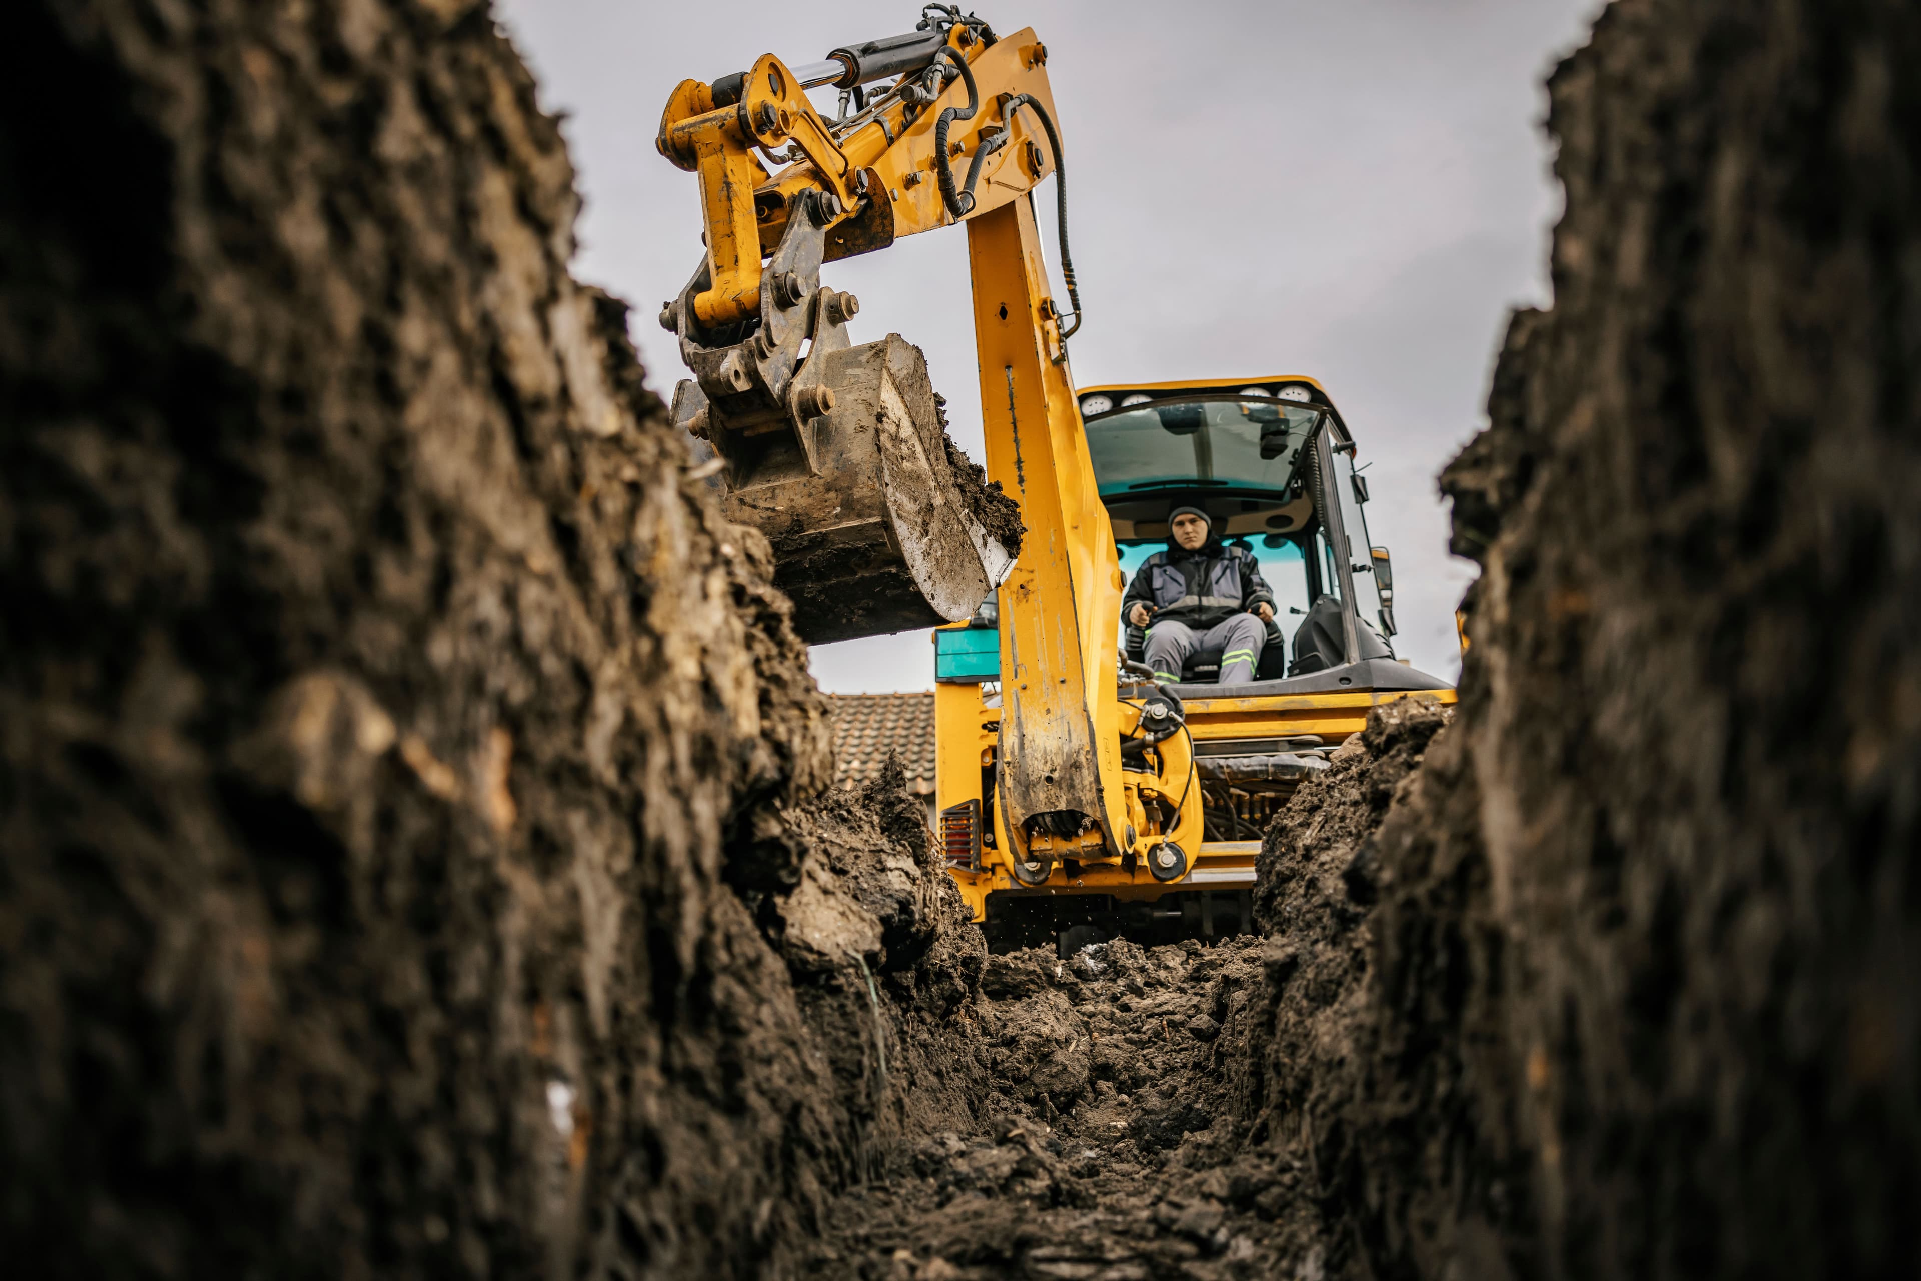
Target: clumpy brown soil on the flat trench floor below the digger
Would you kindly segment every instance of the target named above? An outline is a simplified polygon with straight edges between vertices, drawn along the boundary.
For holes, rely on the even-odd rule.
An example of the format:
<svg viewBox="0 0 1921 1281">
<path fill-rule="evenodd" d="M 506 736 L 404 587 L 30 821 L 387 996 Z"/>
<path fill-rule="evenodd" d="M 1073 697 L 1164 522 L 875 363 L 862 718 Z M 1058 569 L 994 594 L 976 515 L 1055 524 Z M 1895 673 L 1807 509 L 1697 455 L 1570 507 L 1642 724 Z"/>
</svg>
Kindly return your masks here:
<svg viewBox="0 0 1921 1281">
<path fill-rule="evenodd" d="M 1289 1179 L 1229 1164 L 1260 943 L 989 956 L 968 1110 L 824 1216 L 815 1277 L 1252 1277 Z"/>
</svg>

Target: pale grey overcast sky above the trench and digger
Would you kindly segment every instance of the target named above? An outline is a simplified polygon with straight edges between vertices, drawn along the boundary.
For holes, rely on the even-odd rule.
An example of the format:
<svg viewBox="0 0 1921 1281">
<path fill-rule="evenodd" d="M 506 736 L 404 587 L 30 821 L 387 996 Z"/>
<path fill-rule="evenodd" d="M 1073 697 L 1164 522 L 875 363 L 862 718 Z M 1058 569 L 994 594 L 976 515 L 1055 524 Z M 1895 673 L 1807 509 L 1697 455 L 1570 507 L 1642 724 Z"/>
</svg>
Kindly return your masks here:
<svg viewBox="0 0 1921 1281">
<path fill-rule="evenodd" d="M 815 61 L 911 31 L 914 4 L 496 0 L 565 111 L 586 196 L 576 273 L 634 303 L 651 386 L 688 376 L 653 315 L 701 259 L 692 173 L 653 150 L 667 94 L 765 52 Z M 1541 79 L 1596 0 L 987 0 L 1033 27 L 1066 152 L 1068 236 L 1087 321 L 1080 386 L 1310 375 L 1372 465 L 1368 528 L 1395 555 L 1402 657 L 1460 670 L 1435 474 L 1485 421 L 1508 309 L 1544 303 L 1560 209 Z M 820 106 L 832 100 L 816 90 Z M 1057 254 L 1055 182 L 1035 200 Z M 1058 257 L 1051 259 L 1058 271 Z M 855 342 L 922 346 L 955 440 L 982 457 L 966 234 L 832 263 L 861 298 Z M 1058 275 L 1057 275 L 1058 278 Z M 1064 294 L 1064 290 L 1060 290 Z M 926 632 L 820 645 L 828 691 L 928 689 Z"/>
</svg>

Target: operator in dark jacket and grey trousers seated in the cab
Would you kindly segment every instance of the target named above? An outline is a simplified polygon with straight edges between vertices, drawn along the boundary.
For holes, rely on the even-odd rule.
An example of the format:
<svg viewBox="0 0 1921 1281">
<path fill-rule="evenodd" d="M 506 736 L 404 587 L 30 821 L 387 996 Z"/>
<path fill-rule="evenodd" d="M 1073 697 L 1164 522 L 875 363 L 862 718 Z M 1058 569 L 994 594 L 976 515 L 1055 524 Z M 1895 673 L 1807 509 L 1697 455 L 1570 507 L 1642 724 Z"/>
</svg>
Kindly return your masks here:
<svg viewBox="0 0 1921 1281">
<path fill-rule="evenodd" d="M 1155 680 L 1179 680 L 1195 651 L 1218 649 L 1220 684 L 1239 686 L 1254 678 L 1274 593 L 1252 555 L 1222 545 L 1212 517 L 1176 507 L 1168 513 L 1168 549 L 1135 570 L 1120 613 L 1147 628 L 1145 657 Z"/>
</svg>

